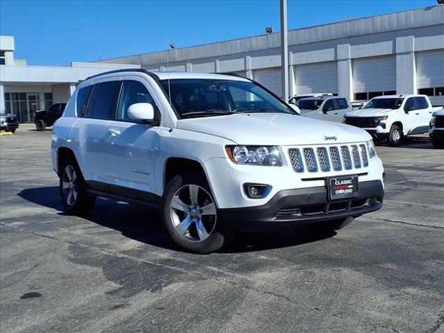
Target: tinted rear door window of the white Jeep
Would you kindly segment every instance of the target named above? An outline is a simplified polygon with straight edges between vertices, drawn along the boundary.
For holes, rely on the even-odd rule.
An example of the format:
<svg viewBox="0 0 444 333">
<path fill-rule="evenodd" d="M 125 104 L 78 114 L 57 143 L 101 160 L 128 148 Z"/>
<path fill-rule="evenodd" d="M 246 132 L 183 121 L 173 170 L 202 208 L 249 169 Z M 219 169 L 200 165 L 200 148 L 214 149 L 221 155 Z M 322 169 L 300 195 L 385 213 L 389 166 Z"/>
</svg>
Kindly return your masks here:
<svg viewBox="0 0 444 333">
<path fill-rule="evenodd" d="M 95 85 L 89 99 L 87 117 L 97 119 L 113 118 L 119 88 L 119 81 L 109 81 Z"/>
</svg>

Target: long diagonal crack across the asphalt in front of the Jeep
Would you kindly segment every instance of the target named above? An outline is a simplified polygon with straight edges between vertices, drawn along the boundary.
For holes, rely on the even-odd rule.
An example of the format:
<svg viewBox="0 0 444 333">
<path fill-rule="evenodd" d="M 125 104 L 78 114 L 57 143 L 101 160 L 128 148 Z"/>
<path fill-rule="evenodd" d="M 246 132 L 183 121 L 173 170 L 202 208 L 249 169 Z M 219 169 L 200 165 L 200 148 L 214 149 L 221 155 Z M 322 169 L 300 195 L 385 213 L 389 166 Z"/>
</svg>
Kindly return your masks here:
<svg viewBox="0 0 444 333">
<path fill-rule="evenodd" d="M 87 245 L 87 244 L 81 244 L 81 243 L 78 243 L 76 241 L 70 241 L 68 239 L 62 239 L 62 238 L 58 238 L 58 237 L 51 236 L 51 235 L 48 235 L 48 234 L 40 234 L 38 232 L 33 232 L 33 231 L 30 231 L 30 230 L 26 230 L 24 228 L 17 228 L 17 227 L 12 227 L 10 225 L 5 225 L 4 223 L 0 223 L 0 226 L 2 226 L 3 228 L 8 228 L 8 229 L 11 229 L 11 230 L 16 230 L 16 231 L 19 231 L 19 232 L 25 232 L 27 234 L 33 234 L 34 236 L 37 236 L 37 237 L 44 237 L 46 239 L 51 239 L 53 241 L 60 241 L 62 243 L 67 243 L 67 244 L 71 244 L 71 245 L 75 245 L 75 246 L 81 246 L 83 248 L 88 248 L 89 250 L 95 250 L 96 252 L 103 253 L 105 255 L 114 255 L 114 256 L 120 257 L 120 258 L 126 258 L 126 259 L 135 260 L 137 262 L 142 262 L 143 264 L 151 264 L 151 265 L 155 265 L 155 266 L 160 266 L 162 268 L 170 268 L 170 269 L 173 269 L 173 270 L 176 270 L 176 271 L 180 271 L 181 273 L 187 273 L 187 274 L 191 274 L 191 275 L 196 275 L 196 276 L 198 276 L 200 278 L 212 278 L 212 279 L 217 280 L 217 281 L 219 281 L 221 283 L 224 283 L 224 284 L 231 284 L 231 285 L 236 286 L 236 287 L 241 287 L 241 288 L 244 288 L 244 289 L 248 289 L 248 290 L 253 291 L 255 293 L 261 293 L 261 294 L 265 294 L 265 295 L 268 295 L 268 296 L 273 296 L 273 297 L 276 297 L 276 298 L 280 298 L 282 300 L 286 300 L 287 302 L 289 302 L 289 303 L 291 303 L 293 305 L 301 305 L 303 307 L 306 307 L 307 309 L 312 309 L 314 311 L 319 311 L 319 312 L 321 312 L 323 314 L 327 314 L 328 316 L 334 316 L 336 318 L 341 318 L 341 319 L 343 319 L 345 321 L 357 321 L 357 322 L 362 323 L 364 325 L 368 325 L 370 327 L 373 327 L 374 329 L 377 329 L 377 327 L 382 327 L 382 328 L 388 328 L 388 329 L 392 330 L 393 332 L 398 332 L 397 330 L 395 330 L 395 329 L 393 329 L 391 327 L 379 326 L 379 325 L 375 325 L 375 324 L 372 324 L 372 323 L 368 323 L 367 321 L 364 321 L 361 318 L 341 316 L 340 314 L 335 314 L 335 313 L 332 313 L 332 312 L 329 312 L 329 311 L 325 311 L 325 310 L 323 310 L 321 308 L 318 308 L 318 307 L 312 307 L 310 305 L 307 305 L 304 302 L 296 302 L 295 300 L 289 298 L 288 296 L 284 296 L 284 295 L 282 295 L 280 293 L 273 293 L 272 291 L 267 291 L 267 290 L 264 290 L 264 289 L 258 289 L 258 288 L 252 287 L 252 286 L 242 282 L 242 278 L 244 278 L 244 276 L 239 277 L 239 275 L 237 275 L 235 273 L 228 273 L 228 272 L 225 272 L 225 271 L 221 271 L 219 268 L 198 264 L 199 266 L 201 266 L 203 268 L 210 269 L 210 271 L 215 271 L 217 273 L 223 273 L 224 275 L 231 275 L 231 278 L 235 278 L 235 280 L 237 280 L 237 281 L 227 280 L 227 279 L 217 278 L 217 277 L 216 278 L 209 277 L 209 276 L 205 275 L 205 273 L 203 273 L 203 272 L 202 273 L 200 273 L 200 272 L 196 273 L 196 271 L 187 271 L 187 269 L 185 269 L 185 268 L 178 268 L 178 267 L 167 265 L 167 264 L 164 264 L 164 263 L 160 264 L 160 263 L 149 261 L 149 260 L 139 259 L 137 257 L 131 257 L 130 255 L 125 255 L 123 253 L 119 253 L 119 252 L 116 252 L 116 251 L 104 250 L 104 249 L 98 248 L 96 246 L 91 246 L 91 245 Z M 187 262 L 189 264 L 196 264 L 194 262 L 189 262 L 186 259 L 174 258 L 174 260 L 182 261 L 182 262 Z M 248 280 L 248 279 L 246 279 L 246 280 Z M 248 280 L 248 282 L 252 282 L 252 281 Z"/>
</svg>

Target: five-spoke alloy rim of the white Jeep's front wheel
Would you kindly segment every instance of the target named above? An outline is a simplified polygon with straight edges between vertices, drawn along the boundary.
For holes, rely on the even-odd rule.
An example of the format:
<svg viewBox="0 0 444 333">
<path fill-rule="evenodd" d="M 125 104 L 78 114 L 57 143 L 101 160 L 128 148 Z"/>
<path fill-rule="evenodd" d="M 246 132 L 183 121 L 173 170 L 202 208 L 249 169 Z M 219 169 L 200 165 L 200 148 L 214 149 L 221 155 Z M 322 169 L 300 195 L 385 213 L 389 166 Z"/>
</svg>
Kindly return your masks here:
<svg viewBox="0 0 444 333">
<path fill-rule="evenodd" d="M 170 203 L 174 230 L 187 241 L 203 241 L 216 226 L 216 205 L 212 196 L 198 185 L 185 185 Z"/>
</svg>

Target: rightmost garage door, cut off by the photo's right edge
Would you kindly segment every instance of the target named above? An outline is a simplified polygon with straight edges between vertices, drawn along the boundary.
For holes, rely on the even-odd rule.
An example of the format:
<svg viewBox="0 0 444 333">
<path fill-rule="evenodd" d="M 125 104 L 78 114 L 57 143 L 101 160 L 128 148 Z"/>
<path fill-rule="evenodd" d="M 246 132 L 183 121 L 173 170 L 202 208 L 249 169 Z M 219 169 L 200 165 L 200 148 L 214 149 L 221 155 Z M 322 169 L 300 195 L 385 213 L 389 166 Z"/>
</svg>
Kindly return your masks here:
<svg viewBox="0 0 444 333">
<path fill-rule="evenodd" d="M 416 87 L 432 104 L 444 104 L 444 49 L 416 53 Z"/>
</svg>

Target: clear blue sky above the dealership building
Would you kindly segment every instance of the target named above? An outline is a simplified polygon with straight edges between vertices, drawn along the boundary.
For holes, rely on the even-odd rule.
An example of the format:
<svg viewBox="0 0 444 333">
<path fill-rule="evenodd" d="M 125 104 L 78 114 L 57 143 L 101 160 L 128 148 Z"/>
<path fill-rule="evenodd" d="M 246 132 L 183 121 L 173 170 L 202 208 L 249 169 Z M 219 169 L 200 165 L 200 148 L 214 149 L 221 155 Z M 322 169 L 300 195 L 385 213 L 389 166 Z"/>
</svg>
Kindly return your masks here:
<svg viewBox="0 0 444 333">
<path fill-rule="evenodd" d="M 289 1 L 289 29 L 436 6 L 436 0 Z M 280 30 L 279 1 L 0 1 L 0 33 L 28 65 L 68 65 Z"/>
</svg>

